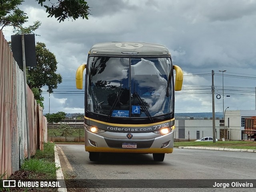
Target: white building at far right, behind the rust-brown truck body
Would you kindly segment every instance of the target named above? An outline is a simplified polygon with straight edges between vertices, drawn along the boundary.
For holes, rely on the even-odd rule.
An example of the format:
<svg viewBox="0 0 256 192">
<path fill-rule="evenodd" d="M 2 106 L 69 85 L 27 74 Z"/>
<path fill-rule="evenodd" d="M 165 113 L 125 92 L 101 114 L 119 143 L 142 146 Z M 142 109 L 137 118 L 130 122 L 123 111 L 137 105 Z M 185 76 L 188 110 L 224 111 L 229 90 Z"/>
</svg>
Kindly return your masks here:
<svg viewBox="0 0 256 192">
<path fill-rule="evenodd" d="M 244 134 L 245 119 L 253 116 L 256 116 L 256 110 L 227 110 L 225 113 L 225 133 L 228 134 L 228 139 L 247 140 L 247 135 Z"/>
</svg>

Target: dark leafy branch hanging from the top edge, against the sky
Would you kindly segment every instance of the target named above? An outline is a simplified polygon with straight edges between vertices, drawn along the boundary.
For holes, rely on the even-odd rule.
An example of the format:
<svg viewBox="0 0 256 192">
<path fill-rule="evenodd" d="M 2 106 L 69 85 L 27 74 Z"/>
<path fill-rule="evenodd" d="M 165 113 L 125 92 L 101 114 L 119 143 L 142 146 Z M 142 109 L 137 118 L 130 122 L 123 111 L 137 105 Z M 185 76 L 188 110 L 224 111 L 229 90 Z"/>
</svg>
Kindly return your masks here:
<svg viewBox="0 0 256 192">
<path fill-rule="evenodd" d="M 66 18 L 72 18 L 74 20 L 78 18 L 88 19 L 90 14 L 90 7 L 84 0 L 58 0 L 58 2 L 52 3 L 51 0 L 48 2 L 48 6 L 44 5 L 46 0 L 36 0 L 38 4 L 46 8 L 46 12 L 49 14 L 48 17 L 54 16 L 58 18 L 59 22 L 64 21 Z M 50 6 L 49 6 L 50 5 Z"/>
</svg>

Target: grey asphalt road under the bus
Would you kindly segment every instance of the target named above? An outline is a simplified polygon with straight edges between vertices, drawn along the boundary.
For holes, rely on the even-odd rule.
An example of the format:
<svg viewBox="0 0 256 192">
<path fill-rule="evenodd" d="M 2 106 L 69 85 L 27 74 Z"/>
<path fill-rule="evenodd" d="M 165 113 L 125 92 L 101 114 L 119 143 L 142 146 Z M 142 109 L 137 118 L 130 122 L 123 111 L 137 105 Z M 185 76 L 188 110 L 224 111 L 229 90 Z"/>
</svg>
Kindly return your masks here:
<svg viewBox="0 0 256 192">
<path fill-rule="evenodd" d="M 235 181 L 244 179 L 250 183 L 250 179 L 256 179 L 256 154 L 252 152 L 229 152 L 200 149 L 174 148 L 172 154 L 166 154 L 164 162 L 154 162 L 152 154 L 100 154 L 98 162 L 89 160 L 89 153 L 85 152 L 84 145 L 58 144 L 71 164 L 70 172 L 76 179 L 119 179 L 126 189 L 121 188 L 89 188 L 86 191 L 255 191 L 254 188 L 154 188 L 162 182 L 202 182 L 207 186 L 208 179 L 216 182 L 221 180 Z M 60 151 L 59 148 L 59 151 Z M 62 154 L 63 154 L 62 152 Z M 60 156 L 61 153 L 59 152 Z M 70 167 L 67 161 L 61 159 L 62 169 L 67 173 Z M 122 179 L 122 180 L 120 180 Z M 145 182 L 145 179 L 148 179 Z M 151 180 L 150 180 L 151 179 Z M 153 180 L 154 179 L 154 180 Z M 165 180 L 166 179 L 166 180 Z M 168 180 L 167 180 L 168 179 Z M 178 179 L 178 180 L 174 180 Z M 93 181 L 93 180 L 92 180 Z M 145 184 L 147 188 L 128 188 L 126 183 L 133 186 L 135 182 Z M 112 183 L 120 185 L 120 183 Z M 254 182 L 256 185 L 256 183 Z M 186 186 L 186 183 L 184 183 Z M 99 185 L 100 186 L 100 185 Z M 191 185 L 190 185 L 191 186 Z M 231 186 L 231 183 L 230 183 Z M 79 190 L 78 190 L 79 191 Z M 80 191 L 82 191 L 80 189 Z"/>
</svg>

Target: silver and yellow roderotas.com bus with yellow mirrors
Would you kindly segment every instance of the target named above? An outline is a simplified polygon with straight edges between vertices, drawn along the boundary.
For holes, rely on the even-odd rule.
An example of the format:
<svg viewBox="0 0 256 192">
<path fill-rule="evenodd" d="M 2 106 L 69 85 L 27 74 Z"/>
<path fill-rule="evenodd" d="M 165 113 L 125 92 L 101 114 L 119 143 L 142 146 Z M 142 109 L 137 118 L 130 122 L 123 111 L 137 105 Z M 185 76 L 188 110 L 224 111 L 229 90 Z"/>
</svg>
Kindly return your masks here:
<svg viewBox="0 0 256 192">
<path fill-rule="evenodd" d="M 77 69 L 77 89 L 82 89 L 84 69 L 85 150 L 91 161 L 100 152 L 152 153 L 154 161 L 172 153 L 174 90 L 181 90 L 183 73 L 172 65 L 166 47 L 95 44 L 87 64 Z"/>
</svg>

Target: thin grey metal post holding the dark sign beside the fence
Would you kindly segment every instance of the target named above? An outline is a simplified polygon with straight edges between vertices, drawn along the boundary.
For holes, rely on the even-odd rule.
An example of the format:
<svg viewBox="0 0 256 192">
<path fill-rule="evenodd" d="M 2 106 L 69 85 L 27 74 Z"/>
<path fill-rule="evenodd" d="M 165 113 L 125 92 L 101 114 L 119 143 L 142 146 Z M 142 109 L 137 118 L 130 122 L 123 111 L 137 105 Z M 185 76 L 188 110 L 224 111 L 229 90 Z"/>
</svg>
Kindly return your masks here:
<svg viewBox="0 0 256 192">
<path fill-rule="evenodd" d="M 23 76 L 24 76 L 24 95 L 25 95 L 25 109 L 26 109 L 26 131 L 27 131 L 27 148 L 28 160 L 30 160 L 30 137 L 29 137 L 29 123 L 28 123 L 28 93 L 27 93 L 27 77 L 26 77 L 26 59 L 25 59 L 25 44 L 24 35 L 21 36 L 22 40 L 22 57 L 23 57 Z"/>
</svg>

